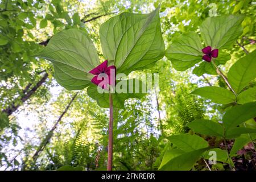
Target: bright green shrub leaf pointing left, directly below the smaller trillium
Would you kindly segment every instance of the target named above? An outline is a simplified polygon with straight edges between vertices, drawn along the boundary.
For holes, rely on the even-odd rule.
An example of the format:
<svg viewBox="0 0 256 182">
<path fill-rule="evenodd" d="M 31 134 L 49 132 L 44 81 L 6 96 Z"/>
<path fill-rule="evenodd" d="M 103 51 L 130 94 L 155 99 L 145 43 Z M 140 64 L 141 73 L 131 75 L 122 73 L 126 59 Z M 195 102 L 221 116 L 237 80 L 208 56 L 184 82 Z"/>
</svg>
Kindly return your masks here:
<svg viewBox="0 0 256 182">
<path fill-rule="evenodd" d="M 191 94 L 208 98 L 217 104 L 229 104 L 236 101 L 236 96 L 230 90 L 218 86 L 204 86 L 191 92 Z"/>
</svg>

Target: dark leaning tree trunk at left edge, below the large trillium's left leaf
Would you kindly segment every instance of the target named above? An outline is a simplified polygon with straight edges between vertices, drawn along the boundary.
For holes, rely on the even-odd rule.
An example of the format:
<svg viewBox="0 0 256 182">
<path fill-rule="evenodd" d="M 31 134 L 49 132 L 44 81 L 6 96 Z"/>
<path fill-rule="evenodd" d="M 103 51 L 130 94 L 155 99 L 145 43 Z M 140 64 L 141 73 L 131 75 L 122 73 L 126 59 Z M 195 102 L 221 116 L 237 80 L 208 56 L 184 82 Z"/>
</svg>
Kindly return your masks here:
<svg viewBox="0 0 256 182">
<path fill-rule="evenodd" d="M 45 73 L 44 76 L 41 78 L 41 80 L 39 80 L 36 85 L 27 92 L 27 90 L 30 88 L 31 84 L 28 84 L 26 86 L 26 88 L 23 90 L 24 95 L 20 98 L 20 104 L 12 104 L 11 106 L 9 106 L 7 109 L 2 110 L 3 113 L 6 113 L 7 116 L 13 114 L 20 105 L 24 104 L 24 102 L 26 102 L 28 100 L 28 98 L 30 98 L 32 96 L 32 94 L 34 94 L 36 92 L 36 90 L 44 83 L 46 82 L 46 78 L 48 77 L 48 73 Z"/>
</svg>

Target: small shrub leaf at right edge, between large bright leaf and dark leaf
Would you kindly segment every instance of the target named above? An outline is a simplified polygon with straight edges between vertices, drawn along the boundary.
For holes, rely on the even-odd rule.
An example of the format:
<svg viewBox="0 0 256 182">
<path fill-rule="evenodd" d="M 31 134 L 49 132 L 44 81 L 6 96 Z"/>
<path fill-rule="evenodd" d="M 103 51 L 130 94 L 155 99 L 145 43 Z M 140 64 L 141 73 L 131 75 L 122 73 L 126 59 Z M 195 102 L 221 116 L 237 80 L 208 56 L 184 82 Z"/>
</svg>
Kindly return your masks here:
<svg viewBox="0 0 256 182">
<path fill-rule="evenodd" d="M 241 92 L 237 96 L 238 104 L 245 104 L 247 102 L 253 102 L 253 101 L 256 101 L 256 86 Z"/>
</svg>

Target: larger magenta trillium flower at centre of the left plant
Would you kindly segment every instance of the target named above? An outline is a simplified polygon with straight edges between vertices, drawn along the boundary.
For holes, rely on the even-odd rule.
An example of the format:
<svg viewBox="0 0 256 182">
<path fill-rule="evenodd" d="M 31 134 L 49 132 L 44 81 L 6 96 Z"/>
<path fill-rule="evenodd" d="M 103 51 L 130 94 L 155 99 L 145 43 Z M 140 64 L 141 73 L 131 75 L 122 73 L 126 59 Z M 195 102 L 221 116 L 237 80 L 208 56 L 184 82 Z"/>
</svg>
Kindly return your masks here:
<svg viewBox="0 0 256 182">
<path fill-rule="evenodd" d="M 93 68 L 89 73 L 96 75 L 92 78 L 93 84 L 101 84 L 102 89 L 108 89 L 109 85 L 115 85 L 115 72 L 116 68 L 114 65 L 108 67 L 108 60 Z M 102 82 L 102 83 L 101 83 Z"/>
</svg>

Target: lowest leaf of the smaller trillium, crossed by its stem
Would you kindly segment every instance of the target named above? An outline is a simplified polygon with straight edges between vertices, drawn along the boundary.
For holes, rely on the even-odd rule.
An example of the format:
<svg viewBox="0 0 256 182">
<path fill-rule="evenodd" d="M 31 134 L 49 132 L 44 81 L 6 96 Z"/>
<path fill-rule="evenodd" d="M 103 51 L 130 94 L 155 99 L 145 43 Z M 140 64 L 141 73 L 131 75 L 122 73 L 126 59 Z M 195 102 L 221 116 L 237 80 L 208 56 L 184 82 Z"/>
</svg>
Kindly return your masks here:
<svg viewBox="0 0 256 182">
<path fill-rule="evenodd" d="M 230 60 L 230 58 L 231 56 L 229 53 L 220 51 L 218 53 L 218 57 L 214 59 L 214 62 L 217 65 L 221 65 L 221 64 L 225 64 L 226 61 Z M 206 61 L 201 62 L 198 67 L 195 67 L 193 69 L 193 73 L 196 76 L 202 76 L 204 73 L 207 73 L 209 75 L 217 75 L 216 68 L 214 67 L 214 65 Z"/>
</svg>

